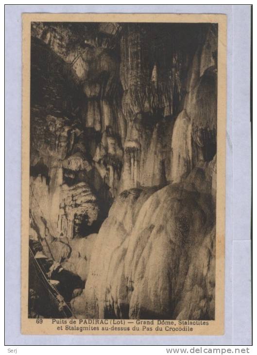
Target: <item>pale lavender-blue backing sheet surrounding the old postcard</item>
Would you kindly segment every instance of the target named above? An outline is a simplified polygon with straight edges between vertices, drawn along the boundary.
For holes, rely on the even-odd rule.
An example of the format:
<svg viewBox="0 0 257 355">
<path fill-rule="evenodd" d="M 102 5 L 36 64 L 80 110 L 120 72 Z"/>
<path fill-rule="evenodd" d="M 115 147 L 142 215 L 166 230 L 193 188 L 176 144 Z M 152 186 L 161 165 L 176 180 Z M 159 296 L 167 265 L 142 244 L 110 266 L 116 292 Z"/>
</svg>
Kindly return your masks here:
<svg viewBox="0 0 257 355">
<path fill-rule="evenodd" d="M 219 13 L 227 15 L 226 259 L 223 336 L 23 336 L 20 333 L 21 14 Z M 5 344 L 250 345 L 251 134 L 249 5 L 8 5 L 5 7 Z"/>
</svg>

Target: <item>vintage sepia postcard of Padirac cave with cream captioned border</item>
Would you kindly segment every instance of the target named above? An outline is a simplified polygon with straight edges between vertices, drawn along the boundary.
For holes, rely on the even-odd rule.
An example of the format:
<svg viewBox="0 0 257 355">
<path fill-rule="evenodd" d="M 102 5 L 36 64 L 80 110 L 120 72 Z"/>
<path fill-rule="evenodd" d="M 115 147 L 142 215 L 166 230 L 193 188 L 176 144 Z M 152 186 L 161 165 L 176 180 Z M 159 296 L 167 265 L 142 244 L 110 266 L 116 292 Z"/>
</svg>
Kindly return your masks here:
<svg viewBox="0 0 257 355">
<path fill-rule="evenodd" d="M 23 14 L 23 334 L 224 332 L 226 16 Z"/>
</svg>

